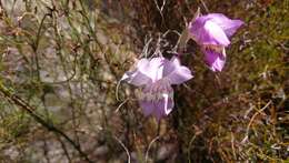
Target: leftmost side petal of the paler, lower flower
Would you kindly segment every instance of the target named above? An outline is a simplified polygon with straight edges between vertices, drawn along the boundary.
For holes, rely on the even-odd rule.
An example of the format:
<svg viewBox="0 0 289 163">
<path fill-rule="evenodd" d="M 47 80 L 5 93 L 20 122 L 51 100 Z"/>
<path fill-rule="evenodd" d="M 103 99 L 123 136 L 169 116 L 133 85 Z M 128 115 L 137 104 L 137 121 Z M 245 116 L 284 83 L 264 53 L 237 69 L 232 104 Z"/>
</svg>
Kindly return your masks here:
<svg viewBox="0 0 289 163">
<path fill-rule="evenodd" d="M 128 83 L 133 84 L 136 86 L 141 86 L 151 83 L 151 79 L 146 74 L 139 72 L 138 70 L 126 72 L 122 75 L 121 81 L 127 81 Z"/>
</svg>

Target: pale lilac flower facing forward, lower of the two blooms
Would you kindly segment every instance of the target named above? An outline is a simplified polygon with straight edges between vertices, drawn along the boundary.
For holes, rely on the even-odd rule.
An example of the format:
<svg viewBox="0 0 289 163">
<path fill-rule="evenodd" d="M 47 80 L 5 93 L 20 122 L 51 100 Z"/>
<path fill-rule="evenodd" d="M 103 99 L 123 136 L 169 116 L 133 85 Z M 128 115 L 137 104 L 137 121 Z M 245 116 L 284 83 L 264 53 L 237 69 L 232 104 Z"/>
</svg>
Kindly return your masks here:
<svg viewBox="0 0 289 163">
<path fill-rule="evenodd" d="M 181 84 L 191 78 L 191 71 L 181 65 L 178 58 L 158 57 L 139 60 L 137 69 L 126 72 L 121 80 L 141 88 L 137 96 L 143 114 L 152 114 L 159 121 L 172 111 L 171 84 Z"/>
</svg>

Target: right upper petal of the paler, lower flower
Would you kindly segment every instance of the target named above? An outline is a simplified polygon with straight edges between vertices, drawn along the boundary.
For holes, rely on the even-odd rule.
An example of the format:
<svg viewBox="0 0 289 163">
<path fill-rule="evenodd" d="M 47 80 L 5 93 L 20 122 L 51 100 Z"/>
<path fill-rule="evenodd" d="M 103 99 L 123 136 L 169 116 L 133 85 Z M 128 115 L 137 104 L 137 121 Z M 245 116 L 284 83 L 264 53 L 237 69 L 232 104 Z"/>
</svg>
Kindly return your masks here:
<svg viewBox="0 0 289 163">
<path fill-rule="evenodd" d="M 178 58 L 172 58 L 166 62 L 163 75 L 170 80 L 171 84 L 181 84 L 192 78 L 191 71 L 181 65 Z"/>
</svg>

